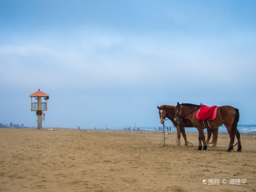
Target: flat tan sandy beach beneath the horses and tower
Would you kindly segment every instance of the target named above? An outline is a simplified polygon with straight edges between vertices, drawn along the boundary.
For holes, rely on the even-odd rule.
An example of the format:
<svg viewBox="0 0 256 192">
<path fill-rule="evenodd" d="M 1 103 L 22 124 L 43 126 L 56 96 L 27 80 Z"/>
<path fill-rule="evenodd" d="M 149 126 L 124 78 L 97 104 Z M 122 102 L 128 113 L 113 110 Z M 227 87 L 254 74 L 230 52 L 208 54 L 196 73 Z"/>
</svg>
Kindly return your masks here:
<svg viewBox="0 0 256 192">
<path fill-rule="evenodd" d="M 242 134 L 242 152 L 227 153 L 228 134 L 199 151 L 198 133 L 187 133 L 195 146 L 181 138 L 177 147 L 173 132 L 164 147 L 160 132 L 48 129 L 0 128 L 1 192 L 256 191 L 254 135 Z"/>
</svg>

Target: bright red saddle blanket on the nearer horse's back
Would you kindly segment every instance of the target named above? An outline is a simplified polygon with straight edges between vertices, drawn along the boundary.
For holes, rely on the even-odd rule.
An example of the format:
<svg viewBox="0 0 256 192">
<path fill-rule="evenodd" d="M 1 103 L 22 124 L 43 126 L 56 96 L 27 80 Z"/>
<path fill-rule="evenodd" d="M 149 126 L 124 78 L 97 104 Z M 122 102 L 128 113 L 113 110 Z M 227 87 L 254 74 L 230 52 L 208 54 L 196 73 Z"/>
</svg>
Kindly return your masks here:
<svg viewBox="0 0 256 192">
<path fill-rule="evenodd" d="M 200 121 L 213 120 L 217 116 L 217 106 L 208 107 L 206 105 L 202 105 L 200 109 L 198 109 L 196 113 L 196 117 Z"/>
</svg>

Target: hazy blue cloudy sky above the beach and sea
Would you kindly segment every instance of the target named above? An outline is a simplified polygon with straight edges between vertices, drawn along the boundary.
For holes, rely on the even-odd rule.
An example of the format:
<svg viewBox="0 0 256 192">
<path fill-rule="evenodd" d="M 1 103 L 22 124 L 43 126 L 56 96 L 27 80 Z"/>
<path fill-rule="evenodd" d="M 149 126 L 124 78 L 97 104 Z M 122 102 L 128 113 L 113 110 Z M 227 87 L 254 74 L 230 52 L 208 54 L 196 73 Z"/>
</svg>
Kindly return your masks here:
<svg viewBox="0 0 256 192">
<path fill-rule="evenodd" d="M 43 127 L 160 126 L 157 106 L 178 101 L 230 105 L 239 124 L 256 124 L 255 10 L 254 0 L 0 0 L 0 123 L 36 127 L 29 95 L 40 87 Z"/>
</svg>

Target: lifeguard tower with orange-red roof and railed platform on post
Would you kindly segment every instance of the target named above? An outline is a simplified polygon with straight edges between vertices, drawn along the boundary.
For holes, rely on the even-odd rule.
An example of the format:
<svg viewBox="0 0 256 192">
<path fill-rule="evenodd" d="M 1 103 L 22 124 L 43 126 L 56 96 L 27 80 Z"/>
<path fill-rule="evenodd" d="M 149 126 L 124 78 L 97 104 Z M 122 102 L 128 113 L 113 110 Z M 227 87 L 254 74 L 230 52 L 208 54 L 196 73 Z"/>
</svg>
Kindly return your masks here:
<svg viewBox="0 0 256 192">
<path fill-rule="evenodd" d="M 49 95 L 40 91 L 32 93 L 31 97 L 31 111 L 37 112 L 37 129 L 40 130 L 42 128 L 42 115 L 44 116 L 43 111 L 47 111 L 47 100 L 49 99 Z M 43 102 L 43 100 L 45 102 Z M 43 117 L 44 118 L 44 117 Z"/>
</svg>

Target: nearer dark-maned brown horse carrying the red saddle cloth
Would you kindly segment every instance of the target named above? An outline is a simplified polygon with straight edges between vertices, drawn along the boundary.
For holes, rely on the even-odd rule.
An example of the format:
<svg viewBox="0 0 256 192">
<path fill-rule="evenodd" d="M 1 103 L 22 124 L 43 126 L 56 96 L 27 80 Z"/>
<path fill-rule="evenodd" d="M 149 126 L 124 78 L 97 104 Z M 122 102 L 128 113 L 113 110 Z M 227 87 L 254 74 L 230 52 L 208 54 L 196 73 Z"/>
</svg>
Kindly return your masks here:
<svg viewBox="0 0 256 192">
<path fill-rule="evenodd" d="M 203 121 L 197 120 L 196 118 L 196 112 L 201 107 L 202 105 L 194 105 L 189 103 L 180 104 L 178 102 L 176 106 L 176 112 L 175 112 L 175 117 L 176 117 L 175 120 L 177 122 L 179 122 L 180 118 L 188 117 L 192 121 L 193 125 L 197 128 L 199 133 L 198 150 L 202 149 L 202 140 L 203 140 L 203 150 L 207 149 L 207 144 L 203 134 L 203 129 L 205 128 L 205 126 L 208 126 L 210 128 L 218 128 L 219 126 L 224 124 L 225 127 L 227 128 L 227 131 L 230 137 L 229 149 L 227 149 L 227 152 L 230 152 L 231 150 L 233 150 L 235 135 L 238 140 L 237 151 L 241 151 L 242 146 L 240 141 L 240 133 L 237 130 L 237 123 L 239 121 L 239 110 L 231 106 L 218 107 L 217 117 L 214 120 L 208 121 L 208 123 L 205 123 L 204 125 Z"/>
</svg>

